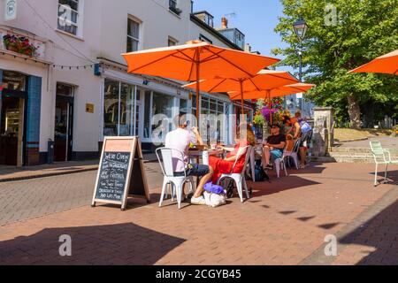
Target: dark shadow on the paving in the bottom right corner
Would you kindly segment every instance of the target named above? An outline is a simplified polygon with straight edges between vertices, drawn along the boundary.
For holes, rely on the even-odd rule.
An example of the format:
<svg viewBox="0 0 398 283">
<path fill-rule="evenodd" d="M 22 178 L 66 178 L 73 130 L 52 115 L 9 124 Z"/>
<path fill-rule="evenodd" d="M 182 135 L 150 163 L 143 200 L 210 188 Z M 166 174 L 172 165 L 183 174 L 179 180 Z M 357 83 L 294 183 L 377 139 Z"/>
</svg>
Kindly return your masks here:
<svg viewBox="0 0 398 283">
<path fill-rule="evenodd" d="M 359 261 L 358 265 L 398 264 L 398 201 L 341 239 L 342 244 L 372 247 L 375 251 Z"/>
</svg>

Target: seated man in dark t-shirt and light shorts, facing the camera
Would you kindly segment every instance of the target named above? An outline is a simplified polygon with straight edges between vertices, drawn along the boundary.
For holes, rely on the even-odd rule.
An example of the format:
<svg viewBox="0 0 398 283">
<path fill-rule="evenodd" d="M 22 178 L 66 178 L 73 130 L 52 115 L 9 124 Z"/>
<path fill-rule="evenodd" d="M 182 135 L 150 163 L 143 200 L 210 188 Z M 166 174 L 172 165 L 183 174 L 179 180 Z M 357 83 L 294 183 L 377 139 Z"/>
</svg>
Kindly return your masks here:
<svg viewBox="0 0 398 283">
<path fill-rule="evenodd" d="M 264 143 L 263 149 L 263 167 L 265 169 L 272 169 L 273 161 L 283 156 L 283 150 L 286 146 L 286 135 L 280 134 L 279 125 L 272 125 L 271 135 Z M 270 164 L 272 161 L 272 164 Z"/>
</svg>

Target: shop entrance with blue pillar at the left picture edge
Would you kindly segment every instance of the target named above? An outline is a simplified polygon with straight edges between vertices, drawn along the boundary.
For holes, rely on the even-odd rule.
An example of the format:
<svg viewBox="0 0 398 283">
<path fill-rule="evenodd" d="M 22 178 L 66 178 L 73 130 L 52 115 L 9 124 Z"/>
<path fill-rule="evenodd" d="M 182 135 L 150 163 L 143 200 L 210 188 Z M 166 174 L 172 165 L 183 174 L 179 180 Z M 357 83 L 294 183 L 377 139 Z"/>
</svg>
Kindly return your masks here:
<svg viewBox="0 0 398 283">
<path fill-rule="evenodd" d="M 0 70 L 0 83 L 0 165 L 38 164 L 41 78 Z"/>
</svg>

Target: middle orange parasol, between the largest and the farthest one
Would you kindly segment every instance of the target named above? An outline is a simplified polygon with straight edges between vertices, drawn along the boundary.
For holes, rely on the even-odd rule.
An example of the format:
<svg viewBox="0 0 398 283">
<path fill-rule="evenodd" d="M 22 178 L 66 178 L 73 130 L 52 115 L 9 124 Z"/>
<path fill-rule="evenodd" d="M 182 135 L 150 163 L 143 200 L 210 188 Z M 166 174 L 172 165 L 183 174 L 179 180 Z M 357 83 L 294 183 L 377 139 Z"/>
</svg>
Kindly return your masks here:
<svg viewBox="0 0 398 283">
<path fill-rule="evenodd" d="M 259 91 L 261 89 L 277 88 L 286 84 L 297 82 L 290 73 L 285 71 L 262 70 L 253 77 L 235 78 L 215 78 L 201 80 L 200 89 L 207 93 L 219 93 L 236 91 L 241 100 L 241 113 L 244 112 L 244 91 Z M 190 83 L 182 86 L 183 88 L 196 88 L 197 83 Z M 238 99 L 236 99 L 238 100 Z"/>
</svg>

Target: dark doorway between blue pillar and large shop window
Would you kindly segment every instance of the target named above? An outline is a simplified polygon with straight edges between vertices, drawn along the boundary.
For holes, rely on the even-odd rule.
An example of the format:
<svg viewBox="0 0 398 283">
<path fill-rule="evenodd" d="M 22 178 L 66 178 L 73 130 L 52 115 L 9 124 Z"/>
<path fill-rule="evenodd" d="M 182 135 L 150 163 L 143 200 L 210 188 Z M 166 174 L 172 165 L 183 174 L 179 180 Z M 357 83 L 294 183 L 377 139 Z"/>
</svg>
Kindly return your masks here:
<svg viewBox="0 0 398 283">
<path fill-rule="evenodd" d="M 57 84 L 54 161 L 73 158 L 73 87 Z"/>
</svg>

